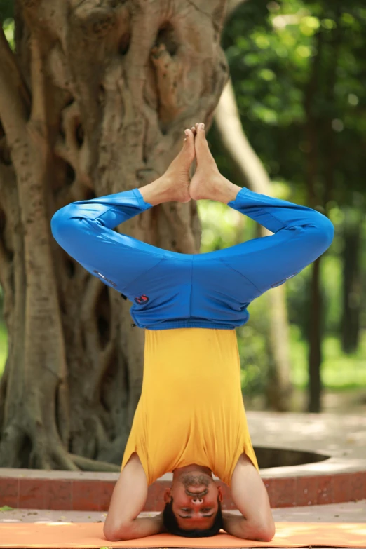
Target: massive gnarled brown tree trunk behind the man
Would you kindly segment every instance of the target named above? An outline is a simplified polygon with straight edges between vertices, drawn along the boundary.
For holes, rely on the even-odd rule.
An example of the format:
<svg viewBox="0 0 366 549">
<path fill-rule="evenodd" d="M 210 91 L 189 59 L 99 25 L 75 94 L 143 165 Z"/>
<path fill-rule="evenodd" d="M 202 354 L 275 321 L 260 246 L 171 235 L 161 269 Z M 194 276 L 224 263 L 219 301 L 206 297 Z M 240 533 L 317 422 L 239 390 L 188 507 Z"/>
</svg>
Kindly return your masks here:
<svg viewBox="0 0 366 549">
<path fill-rule="evenodd" d="M 119 470 L 140 398 L 143 331 L 50 233 L 62 206 L 159 177 L 227 79 L 225 0 L 22 0 L 0 36 L 0 282 L 9 353 L 0 466 Z M 198 250 L 194 202 L 123 225 Z M 108 465 L 105 462 L 115 463 Z"/>
</svg>

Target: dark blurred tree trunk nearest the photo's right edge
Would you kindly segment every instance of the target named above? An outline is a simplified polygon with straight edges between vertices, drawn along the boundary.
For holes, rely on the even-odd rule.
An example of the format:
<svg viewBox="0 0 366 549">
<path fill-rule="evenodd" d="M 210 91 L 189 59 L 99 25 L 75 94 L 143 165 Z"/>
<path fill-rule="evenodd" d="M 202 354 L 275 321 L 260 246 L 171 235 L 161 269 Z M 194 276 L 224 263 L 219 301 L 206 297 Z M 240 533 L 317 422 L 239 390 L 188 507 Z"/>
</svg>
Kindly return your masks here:
<svg viewBox="0 0 366 549">
<path fill-rule="evenodd" d="M 360 269 L 361 210 L 346 208 L 344 219 L 343 309 L 341 346 L 344 353 L 355 353 L 360 336 L 362 281 Z"/>
</svg>

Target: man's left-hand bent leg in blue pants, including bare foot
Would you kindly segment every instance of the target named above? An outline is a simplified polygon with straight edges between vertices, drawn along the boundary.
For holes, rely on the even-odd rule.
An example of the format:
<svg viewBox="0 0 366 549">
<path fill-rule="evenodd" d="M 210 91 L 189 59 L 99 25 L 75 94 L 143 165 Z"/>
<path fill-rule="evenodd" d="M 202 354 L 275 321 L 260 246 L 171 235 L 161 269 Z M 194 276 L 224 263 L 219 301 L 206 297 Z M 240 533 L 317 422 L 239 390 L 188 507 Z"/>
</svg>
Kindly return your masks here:
<svg viewBox="0 0 366 549">
<path fill-rule="evenodd" d="M 186 131 L 182 151 L 155 182 L 142 189 L 71 203 L 51 219 L 57 243 L 93 276 L 120 292 L 158 264 L 164 250 L 113 229 L 158 203 L 190 200 L 189 168 L 194 158 L 194 134 Z"/>
</svg>

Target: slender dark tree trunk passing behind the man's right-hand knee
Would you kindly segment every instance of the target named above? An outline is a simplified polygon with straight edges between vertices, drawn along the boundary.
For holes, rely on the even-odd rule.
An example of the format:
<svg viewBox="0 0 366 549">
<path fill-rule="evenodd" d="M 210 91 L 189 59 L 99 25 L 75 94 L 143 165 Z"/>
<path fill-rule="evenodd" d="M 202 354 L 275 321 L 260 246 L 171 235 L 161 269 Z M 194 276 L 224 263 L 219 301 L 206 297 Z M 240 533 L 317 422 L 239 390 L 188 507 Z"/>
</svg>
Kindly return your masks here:
<svg viewBox="0 0 366 549">
<path fill-rule="evenodd" d="M 332 118 L 337 111 L 328 110 L 323 118 L 318 113 L 317 102 L 320 98 L 328 105 L 334 104 L 334 86 L 337 81 L 337 65 L 342 35 L 339 27 L 341 7 L 335 8 L 337 30 L 330 39 L 320 27 L 316 34 L 316 55 L 311 60 L 309 82 L 304 93 L 304 111 L 306 122 L 304 127 L 307 148 L 306 184 L 311 208 L 320 208 L 327 213 L 327 205 L 332 199 L 335 187 L 334 173 L 339 151 L 337 150 Z M 324 13 L 323 15 L 326 15 Z M 327 49 L 328 48 L 328 49 Z M 332 52 L 332 62 L 325 61 L 327 51 Z M 324 76 L 324 71 L 327 74 Z M 309 314 L 309 412 L 321 412 L 322 392 L 321 365 L 322 341 L 324 333 L 323 299 L 320 280 L 319 257 L 312 266 L 311 301 Z"/>
</svg>

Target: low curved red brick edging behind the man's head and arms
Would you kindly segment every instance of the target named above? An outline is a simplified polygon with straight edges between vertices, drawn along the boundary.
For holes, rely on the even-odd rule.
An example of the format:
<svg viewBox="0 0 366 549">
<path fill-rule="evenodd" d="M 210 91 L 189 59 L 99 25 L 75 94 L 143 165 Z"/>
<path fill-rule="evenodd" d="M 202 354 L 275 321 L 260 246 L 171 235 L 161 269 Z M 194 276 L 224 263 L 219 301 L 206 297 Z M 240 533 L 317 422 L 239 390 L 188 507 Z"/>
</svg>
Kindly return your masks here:
<svg viewBox="0 0 366 549">
<path fill-rule="evenodd" d="M 0 469 L 0 507 L 107 511 L 118 473 L 69 473 L 28 469 Z M 234 509 L 230 489 L 219 482 L 222 508 Z M 366 499 L 366 471 L 336 475 L 264 478 L 271 507 L 344 503 Z M 149 487 L 144 511 L 163 510 L 168 480 Z"/>
</svg>

